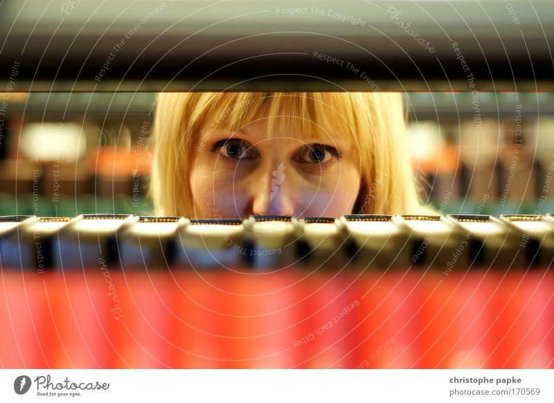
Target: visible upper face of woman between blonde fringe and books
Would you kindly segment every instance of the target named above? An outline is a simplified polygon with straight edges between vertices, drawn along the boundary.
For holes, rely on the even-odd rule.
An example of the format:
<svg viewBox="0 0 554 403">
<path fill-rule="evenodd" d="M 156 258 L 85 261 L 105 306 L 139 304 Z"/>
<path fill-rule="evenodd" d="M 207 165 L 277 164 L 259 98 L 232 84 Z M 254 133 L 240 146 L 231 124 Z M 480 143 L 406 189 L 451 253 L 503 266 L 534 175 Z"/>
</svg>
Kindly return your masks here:
<svg viewBox="0 0 554 403">
<path fill-rule="evenodd" d="M 324 128 L 328 141 L 313 143 L 281 126 L 269 136 L 266 118 L 237 132 L 201 130 L 189 160 L 197 217 L 352 213 L 360 187 L 353 147 L 332 127 Z"/>
</svg>

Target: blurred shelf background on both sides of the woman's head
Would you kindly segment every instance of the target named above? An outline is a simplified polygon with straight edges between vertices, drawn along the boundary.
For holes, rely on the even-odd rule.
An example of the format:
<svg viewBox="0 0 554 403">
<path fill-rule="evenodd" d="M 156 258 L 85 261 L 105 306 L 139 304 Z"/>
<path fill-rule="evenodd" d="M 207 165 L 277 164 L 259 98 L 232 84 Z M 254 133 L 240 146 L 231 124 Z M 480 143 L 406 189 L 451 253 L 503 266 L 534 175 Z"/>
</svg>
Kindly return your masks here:
<svg viewBox="0 0 554 403">
<path fill-rule="evenodd" d="M 0 215 L 150 214 L 156 93 L 6 93 Z M 554 212 L 553 93 L 406 93 L 422 197 L 441 213 Z"/>
</svg>

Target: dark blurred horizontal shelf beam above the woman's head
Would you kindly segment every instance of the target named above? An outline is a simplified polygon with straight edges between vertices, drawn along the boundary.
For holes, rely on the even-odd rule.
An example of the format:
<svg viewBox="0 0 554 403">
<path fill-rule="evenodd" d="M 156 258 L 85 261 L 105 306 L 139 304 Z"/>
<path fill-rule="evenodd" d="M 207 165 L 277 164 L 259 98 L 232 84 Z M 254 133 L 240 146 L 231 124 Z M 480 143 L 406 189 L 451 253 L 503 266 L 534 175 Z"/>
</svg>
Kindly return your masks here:
<svg viewBox="0 0 554 403">
<path fill-rule="evenodd" d="M 554 91 L 553 27 L 548 1 L 5 0 L 0 91 Z"/>
</svg>

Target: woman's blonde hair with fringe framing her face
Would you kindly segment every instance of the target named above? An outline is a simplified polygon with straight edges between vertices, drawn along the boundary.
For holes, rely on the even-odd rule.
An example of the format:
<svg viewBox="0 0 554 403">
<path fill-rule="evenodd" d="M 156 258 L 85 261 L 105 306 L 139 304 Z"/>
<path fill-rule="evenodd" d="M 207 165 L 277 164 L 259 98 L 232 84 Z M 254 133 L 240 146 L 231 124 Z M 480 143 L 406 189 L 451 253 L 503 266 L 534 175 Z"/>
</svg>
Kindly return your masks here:
<svg viewBox="0 0 554 403">
<path fill-rule="evenodd" d="M 154 120 L 150 196 L 156 215 L 195 217 L 189 156 L 206 124 L 238 130 L 269 112 L 280 125 L 319 140 L 332 122 L 359 157 L 361 187 L 353 214 L 425 214 L 407 152 L 401 93 L 161 93 Z M 338 118 L 337 118 L 338 116 Z M 338 121 L 335 121 L 338 120 Z"/>
</svg>

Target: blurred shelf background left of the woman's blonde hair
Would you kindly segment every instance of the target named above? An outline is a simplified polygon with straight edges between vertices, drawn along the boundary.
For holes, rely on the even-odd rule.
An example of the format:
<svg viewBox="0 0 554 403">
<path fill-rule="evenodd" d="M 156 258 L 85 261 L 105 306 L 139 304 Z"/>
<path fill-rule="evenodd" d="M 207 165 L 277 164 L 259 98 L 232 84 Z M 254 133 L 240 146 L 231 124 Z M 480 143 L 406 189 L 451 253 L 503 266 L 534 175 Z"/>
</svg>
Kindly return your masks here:
<svg viewBox="0 0 554 403">
<path fill-rule="evenodd" d="M 155 97 L 10 94 L 0 110 L 0 215 L 151 213 Z"/>
</svg>

